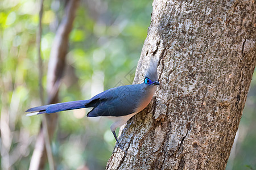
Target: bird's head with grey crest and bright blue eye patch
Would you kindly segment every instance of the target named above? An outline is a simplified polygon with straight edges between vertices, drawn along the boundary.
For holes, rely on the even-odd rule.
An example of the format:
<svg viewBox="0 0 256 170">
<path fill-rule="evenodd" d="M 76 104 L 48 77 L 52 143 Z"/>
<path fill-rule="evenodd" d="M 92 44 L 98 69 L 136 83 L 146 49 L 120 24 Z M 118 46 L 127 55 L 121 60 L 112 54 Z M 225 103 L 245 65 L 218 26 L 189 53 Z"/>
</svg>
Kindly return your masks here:
<svg viewBox="0 0 256 170">
<path fill-rule="evenodd" d="M 144 78 L 144 84 L 147 84 L 148 86 L 159 85 L 157 67 L 158 65 L 156 61 L 150 62 L 150 66 L 148 67 Z"/>
</svg>

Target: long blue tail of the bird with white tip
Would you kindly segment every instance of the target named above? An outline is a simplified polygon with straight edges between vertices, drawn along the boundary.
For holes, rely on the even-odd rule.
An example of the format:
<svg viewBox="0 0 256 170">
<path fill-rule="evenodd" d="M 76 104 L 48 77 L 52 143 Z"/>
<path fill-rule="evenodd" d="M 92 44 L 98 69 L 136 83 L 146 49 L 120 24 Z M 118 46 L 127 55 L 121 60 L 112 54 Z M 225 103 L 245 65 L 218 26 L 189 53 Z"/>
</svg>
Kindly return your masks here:
<svg viewBox="0 0 256 170">
<path fill-rule="evenodd" d="M 68 111 L 73 109 L 81 109 L 85 108 L 85 104 L 88 100 L 78 100 L 78 101 L 69 101 L 65 103 L 56 103 L 56 104 L 48 104 L 40 107 L 30 108 L 26 112 L 26 116 L 32 116 L 35 114 L 43 114 L 43 113 L 56 113 L 61 111 Z"/>
</svg>

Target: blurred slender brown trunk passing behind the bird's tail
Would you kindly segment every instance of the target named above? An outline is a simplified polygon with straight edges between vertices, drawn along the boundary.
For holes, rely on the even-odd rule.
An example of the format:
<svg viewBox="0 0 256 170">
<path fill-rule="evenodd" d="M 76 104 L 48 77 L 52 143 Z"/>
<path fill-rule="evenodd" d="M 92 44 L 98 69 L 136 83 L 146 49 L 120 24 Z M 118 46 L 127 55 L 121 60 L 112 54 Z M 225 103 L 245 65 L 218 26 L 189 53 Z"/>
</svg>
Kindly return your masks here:
<svg viewBox="0 0 256 170">
<path fill-rule="evenodd" d="M 68 50 L 68 39 L 69 33 L 72 30 L 72 23 L 75 20 L 75 14 L 77 7 L 79 5 L 79 0 L 69 0 L 67 1 L 67 6 L 65 7 L 65 16 L 62 19 L 55 39 L 53 41 L 51 55 L 48 64 L 48 74 L 47 74 L 47 96 L 48 104 L 57 103 L 58 91 L 60 86 L 60 79 L 63 76 L 65 67 L 65 56 Z M 46 130 L 43 130 L 41 126 L 38 137 L 36 138 L 35 149 L 30 162 L 30 169 L 43 169 L 46 163 L 47 155 L 49 153 L 46 151 L 46 138 L 51 141 L 53 133 L 55 132 L 57 124 L 57 114 L 44 115 L 44 124 Z M 48 131 L 48 133 L 46 132 Z M 54 167 L 53 167 L 54 168 Z"/>
</svg>

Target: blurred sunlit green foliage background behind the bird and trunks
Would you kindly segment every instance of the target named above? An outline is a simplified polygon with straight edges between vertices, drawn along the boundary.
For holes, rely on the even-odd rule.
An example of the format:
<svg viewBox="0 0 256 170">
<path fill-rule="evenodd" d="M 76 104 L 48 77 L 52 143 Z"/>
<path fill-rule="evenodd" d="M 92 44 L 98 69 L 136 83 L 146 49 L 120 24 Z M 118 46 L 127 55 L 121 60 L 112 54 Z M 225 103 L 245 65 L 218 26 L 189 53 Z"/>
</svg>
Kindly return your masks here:
<svg viewBox="0 0 256 170">
<path fill-rule="evenodd" d="M 131 84 L 151 11 L 152 1 L 148 0 L 81 1 L 70 36 L 60 100 L 89 99 L 108 88 Z M 41 105 L 36 52 L 38 13 L 39 1 L 0 1 L 1 169 L 28 169 L 40 128 L 42 116 L 24 116 L 26 109 Z M 63 13 L 63 1 L 44 1 L 44 88 L 49 53 Z M 226 169 L 256 168 L 255 95 L 254 74 L 236 147 Z M 115 143 L 109 128 L 112 122 L 86 118 L 86 112 L 59 113 L 51 143 L 57 169 L 105 169 Z"/>
</svg>

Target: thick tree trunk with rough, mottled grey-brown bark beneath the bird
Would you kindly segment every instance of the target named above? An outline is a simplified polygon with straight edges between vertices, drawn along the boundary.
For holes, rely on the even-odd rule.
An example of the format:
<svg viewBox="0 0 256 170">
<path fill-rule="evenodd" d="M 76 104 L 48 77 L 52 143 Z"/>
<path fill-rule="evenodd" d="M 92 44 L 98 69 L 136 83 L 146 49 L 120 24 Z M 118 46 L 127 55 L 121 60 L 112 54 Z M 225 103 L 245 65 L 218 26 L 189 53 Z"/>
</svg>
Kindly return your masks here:
<svg viewBox="0 0 256 170">
<path fill-rule="evenodd" d="M 225 169 L 256 63 L 256 1 L 154 1 L 134 83 L 160 87 L 106 169 Z"/>
</svg>

